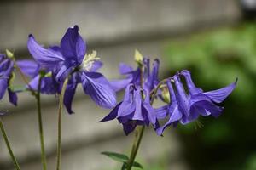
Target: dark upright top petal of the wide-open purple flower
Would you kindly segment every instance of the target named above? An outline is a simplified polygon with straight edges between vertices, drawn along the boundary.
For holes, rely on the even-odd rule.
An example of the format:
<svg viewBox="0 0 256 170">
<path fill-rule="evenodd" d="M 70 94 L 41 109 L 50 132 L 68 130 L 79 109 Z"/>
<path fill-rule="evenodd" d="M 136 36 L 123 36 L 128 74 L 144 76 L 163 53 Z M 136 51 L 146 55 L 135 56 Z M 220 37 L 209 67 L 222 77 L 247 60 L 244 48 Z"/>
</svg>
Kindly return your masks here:
<svg viewBox="0 0 256 170">
<path fill-rule="evenodd" d="M 65 59 L 77 60 L 81 63 L 86 53 L 86 46 L 83 38 L 79 35 L 79 26 L 68 28 L 61 39 L 61 50 Z"/>
</svg>

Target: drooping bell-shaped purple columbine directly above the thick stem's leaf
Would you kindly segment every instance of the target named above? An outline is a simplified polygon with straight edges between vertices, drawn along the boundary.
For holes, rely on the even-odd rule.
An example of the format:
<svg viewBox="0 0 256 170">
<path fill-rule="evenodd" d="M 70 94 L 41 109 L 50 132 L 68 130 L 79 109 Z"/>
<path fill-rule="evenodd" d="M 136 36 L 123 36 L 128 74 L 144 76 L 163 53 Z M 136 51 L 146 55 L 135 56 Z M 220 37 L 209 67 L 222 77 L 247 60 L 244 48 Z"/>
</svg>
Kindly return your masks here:
<svg viewBox="0 0 256 170">
<path fill-rule="evenodd" d="M 145 96 L 145 99 L 142 99 L 142 95 Z M 127 86 L 123 101 L 116 105 L 113 111 L 108 116 L 105 116 L 101 122 L 110 121 L 115 118 L 123 124 L 126 135 L 131 133 L 137 125 L 148 126 L 150 123 L 154 127 L 157 125 L 148 92 L 137 88 L 134 84 Z"/>
</svg>

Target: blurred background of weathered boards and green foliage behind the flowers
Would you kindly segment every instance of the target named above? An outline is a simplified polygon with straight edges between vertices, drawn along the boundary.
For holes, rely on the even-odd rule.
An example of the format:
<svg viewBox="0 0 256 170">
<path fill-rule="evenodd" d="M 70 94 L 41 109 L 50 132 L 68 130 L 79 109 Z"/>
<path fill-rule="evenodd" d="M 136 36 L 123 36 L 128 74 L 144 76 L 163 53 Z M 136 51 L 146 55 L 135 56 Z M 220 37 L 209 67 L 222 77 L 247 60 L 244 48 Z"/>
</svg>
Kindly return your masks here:
<svg viewBox="0 0 256 170">
<path fill-rule="evenodd" d="M 0 49 L 29 59 L 28 34 L 47 46 L 58 44 L 67 27 L 79 25 L 88 51 L 96 49 L 109 79 L 119 78 L 119 62 L 136 66 L 136 48 L 151 59 L 160 58 L 161 78 L 189 69 L 196 85 L 206 91 L 238 77 L 218 119 L 201 117 L 203 127 L 191 123 L 168 128 L 164 137 L 149 128 L 137 161 L 146 170 L 255 170 L 255 14 L 256 0 L 1 1 Z M 19 76 L 16 83 L 23 84 Z M 55 169 L 57 99 L 44 95 L 42 102 L 48 167 Z M 19 94 L 17 107 L 4 99 L 0 110 L 8 113 L 3 122 L 21 168 L 41 169 L 34 98 Z M 73 110 L 74 115 L 63 114 L 62 169 L 120 169 L 100 152 L 129 154 L 133 134 L 125 137 L 115 121 L 98 123 L 109 111 L 96 107 L 81 88 Z M 2 138 L 0 169 L 14 169 Z"/>
</svg>

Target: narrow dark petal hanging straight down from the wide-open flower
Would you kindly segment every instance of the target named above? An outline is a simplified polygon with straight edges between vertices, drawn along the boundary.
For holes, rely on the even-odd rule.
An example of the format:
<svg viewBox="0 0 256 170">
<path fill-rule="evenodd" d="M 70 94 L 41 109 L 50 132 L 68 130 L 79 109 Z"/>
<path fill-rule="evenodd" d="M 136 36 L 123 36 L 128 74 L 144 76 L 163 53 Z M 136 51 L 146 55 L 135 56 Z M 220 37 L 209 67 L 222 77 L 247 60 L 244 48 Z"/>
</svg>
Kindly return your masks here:
<svg viewBox="0 0 256 170">
<path fill-rule="evenodd" d="M 72 101 L 73 101 L 74 94 L 76 92 L 76 88 L 77 88 L 77 84 L 71 82 L 71 84 L 67 84 L 67 89 L 64 94 L 63 103 L 66 106 L 67 112 L 69 114 L 74 113 L 72 110 Z"/>
</svg>

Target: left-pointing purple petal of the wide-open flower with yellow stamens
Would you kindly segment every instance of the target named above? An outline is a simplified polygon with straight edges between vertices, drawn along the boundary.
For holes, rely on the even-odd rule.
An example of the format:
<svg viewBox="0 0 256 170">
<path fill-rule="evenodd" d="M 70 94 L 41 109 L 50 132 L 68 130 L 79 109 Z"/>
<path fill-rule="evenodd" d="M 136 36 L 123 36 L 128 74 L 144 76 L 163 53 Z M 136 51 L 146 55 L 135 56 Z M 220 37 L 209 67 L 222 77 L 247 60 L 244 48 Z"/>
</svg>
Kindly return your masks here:
<svg viewBox="0 0 256 170">
<path fill-rule="evenodd" d="M 45 68 L 54 67 L 59 62 L 63 61 L 63 57 L 59 52 L 49 48 L 43 48 L 36 42 L 32 35 L 29 35 L 27 48 L 32 57 Z"/>
</svg>

